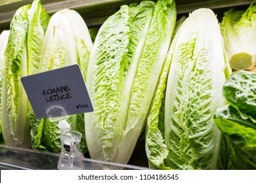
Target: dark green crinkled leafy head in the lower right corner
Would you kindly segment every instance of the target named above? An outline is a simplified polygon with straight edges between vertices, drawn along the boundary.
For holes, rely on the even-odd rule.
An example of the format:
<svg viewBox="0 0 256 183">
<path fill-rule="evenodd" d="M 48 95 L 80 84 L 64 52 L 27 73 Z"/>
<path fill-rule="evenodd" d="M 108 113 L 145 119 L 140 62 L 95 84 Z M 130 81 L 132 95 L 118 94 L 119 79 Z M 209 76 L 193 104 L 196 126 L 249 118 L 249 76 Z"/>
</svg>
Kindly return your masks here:
<svg viewBox="0 0 256 183">
<path fill-rule="evenodd" d="M 236 71 L 223 86 L 228 105 L 215 114 L 224 139 L 220 169 L 256 169 L 255 82 L 256 73 Z"/>
</svg>

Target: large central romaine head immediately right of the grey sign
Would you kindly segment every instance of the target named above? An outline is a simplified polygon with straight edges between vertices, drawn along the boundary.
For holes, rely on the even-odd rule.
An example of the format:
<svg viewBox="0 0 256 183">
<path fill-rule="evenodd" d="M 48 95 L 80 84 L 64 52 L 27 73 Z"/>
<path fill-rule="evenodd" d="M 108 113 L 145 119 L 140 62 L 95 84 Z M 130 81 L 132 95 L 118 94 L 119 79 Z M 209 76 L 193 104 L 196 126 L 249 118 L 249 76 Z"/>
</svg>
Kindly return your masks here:
<svg viewBox="0 0 256 183">
<path fill-rule="evenodd" d="M 87 73 L 95 109 L 85 114 L 91 158 L 129 161 L 144 129 L 176 14 L 174 1 L 142 1 L 121 6 L 100 27 Z"/>
</svg>

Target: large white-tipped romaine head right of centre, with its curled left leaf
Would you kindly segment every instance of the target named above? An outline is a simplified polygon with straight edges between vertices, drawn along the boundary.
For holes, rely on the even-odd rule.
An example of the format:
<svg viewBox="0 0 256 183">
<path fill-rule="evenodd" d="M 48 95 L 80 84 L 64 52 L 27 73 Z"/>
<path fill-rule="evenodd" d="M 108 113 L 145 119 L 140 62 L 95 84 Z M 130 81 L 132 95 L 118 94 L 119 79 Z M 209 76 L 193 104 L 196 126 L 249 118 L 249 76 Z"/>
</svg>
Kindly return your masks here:
<svg viewBox="0 0 256 183">
<path fill-rule="evenodd" d="M 200 8 L 181 24 L 161 71 L 146 124 L 153 169 L 216 169 L 221 132 L 215 110 L 225 104 L 230 74 L 218 20 Z"/>
</svg>

